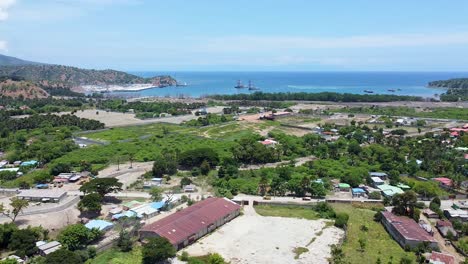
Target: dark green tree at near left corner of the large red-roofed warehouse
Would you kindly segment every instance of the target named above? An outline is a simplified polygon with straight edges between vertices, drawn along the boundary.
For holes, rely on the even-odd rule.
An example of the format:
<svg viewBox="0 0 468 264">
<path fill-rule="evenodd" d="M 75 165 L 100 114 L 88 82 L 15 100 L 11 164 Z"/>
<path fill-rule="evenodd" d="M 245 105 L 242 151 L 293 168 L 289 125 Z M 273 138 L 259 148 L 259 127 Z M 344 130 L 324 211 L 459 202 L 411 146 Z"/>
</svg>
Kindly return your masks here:
<svg viewBox="0 0 468 264">
<path fill-rule="evenodd" d="M 156 237 L 148 239 L 148 243 L 143 246 L 143 264 L 154 264 L 173 258 L 176 254 L 176 249 L 164 237 Z"/>
</svg>

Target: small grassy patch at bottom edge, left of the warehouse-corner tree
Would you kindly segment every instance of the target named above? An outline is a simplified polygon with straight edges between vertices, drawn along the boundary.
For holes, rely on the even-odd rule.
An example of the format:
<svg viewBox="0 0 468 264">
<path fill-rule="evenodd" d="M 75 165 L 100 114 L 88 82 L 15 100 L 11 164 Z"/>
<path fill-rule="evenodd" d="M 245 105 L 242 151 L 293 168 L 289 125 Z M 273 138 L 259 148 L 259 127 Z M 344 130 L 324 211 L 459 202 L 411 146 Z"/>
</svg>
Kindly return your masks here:
<svg viewBox="0 0 468 264">
<path fill-rule="evenodd" d="M 86 264 L 141 263 L 141 259 L 141 247 L 134 247 L 130 252 L 120 252 L 117 249 L 110 249 L 98 254 L 94 259 L 88 260 Z M 66 263 L 66 260 L 64 260 L 64 263 Z"/>
</svg>

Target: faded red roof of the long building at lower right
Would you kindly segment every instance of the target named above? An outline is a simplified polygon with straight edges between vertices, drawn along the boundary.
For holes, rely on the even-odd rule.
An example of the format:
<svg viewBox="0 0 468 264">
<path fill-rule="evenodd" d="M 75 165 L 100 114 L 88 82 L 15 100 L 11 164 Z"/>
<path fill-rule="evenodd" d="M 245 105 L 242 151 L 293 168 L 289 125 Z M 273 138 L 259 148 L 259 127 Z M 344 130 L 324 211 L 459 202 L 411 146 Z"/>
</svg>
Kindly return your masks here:
<svg viewBox="0 0 468 264">
<path fill-rule="evenodd" d="M 397 216 L 388 211 L 382 212 L 382 215 L 405 239 L 436 242 L 436 240 L 422 229 L 421 226 L 419 226 L 413 219 L 404 216 Z"/>
</svg>

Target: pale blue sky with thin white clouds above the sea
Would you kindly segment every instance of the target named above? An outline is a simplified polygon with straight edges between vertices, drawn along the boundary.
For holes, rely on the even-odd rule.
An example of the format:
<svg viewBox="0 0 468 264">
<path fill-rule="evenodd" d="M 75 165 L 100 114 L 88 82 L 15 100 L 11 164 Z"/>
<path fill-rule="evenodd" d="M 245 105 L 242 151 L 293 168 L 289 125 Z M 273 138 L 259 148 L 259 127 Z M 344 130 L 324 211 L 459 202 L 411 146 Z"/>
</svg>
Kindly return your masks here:
<svg viewBox="0 0 468 264">
<path fill-rule="evenodd" d="M 468 71 L 468 1 L 0 0 L 0 53 L 120 70 Z"/>
</svg>

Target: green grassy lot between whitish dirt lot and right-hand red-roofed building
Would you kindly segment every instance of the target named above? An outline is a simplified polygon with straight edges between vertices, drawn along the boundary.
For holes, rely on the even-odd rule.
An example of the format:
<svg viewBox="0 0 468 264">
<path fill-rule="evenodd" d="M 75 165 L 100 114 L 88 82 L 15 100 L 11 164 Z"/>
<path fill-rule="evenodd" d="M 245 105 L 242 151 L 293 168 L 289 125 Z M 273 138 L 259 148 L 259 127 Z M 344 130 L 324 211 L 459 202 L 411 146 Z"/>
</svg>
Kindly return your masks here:
<svg viewBox="0 0 468 264">
<path fill-rule="evenodd" d="M 399 263 L 403 256 L 415 260 L 413 253 L 405 252 L 398 243 L 384 229 L 383 225 L 375 222 L 375 211 L 355 208 L 348 204 L 333 204 L 337 212 L 349 215 L 347 240 L 343 243 L 346 260 L 350 263 Z M 368 231 L 363 231 L 365 225 Z M 364 251 L 360 251 L 359 239 L 366 241 Z M 392 260 L 392 262 L 389 262 Z"/>
</svg>

